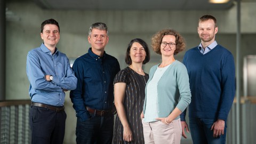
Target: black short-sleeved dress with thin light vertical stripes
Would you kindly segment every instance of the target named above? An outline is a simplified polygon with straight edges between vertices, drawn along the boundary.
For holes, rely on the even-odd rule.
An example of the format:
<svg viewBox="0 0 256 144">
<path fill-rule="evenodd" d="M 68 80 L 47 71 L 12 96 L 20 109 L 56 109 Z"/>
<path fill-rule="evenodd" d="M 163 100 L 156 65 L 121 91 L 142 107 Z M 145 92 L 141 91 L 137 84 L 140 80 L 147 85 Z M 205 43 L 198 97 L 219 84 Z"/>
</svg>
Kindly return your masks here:
<svg viewBox="0 0 256 144">
<path fill-rule="evenodd" d="M 140 114 L 143 110 L 147 81 L 148 74 L 145 73 L 145 76 L 140 75 L 130 67 L 126 67 L 117 73 L 114 84 L 119 82 L 126 83 L 124 108 L 133 134 L 133 141 L 127 142 L 123 140 L 123 125 L 117 115 L 112 143 L 145 143 Z"/>
</svg>

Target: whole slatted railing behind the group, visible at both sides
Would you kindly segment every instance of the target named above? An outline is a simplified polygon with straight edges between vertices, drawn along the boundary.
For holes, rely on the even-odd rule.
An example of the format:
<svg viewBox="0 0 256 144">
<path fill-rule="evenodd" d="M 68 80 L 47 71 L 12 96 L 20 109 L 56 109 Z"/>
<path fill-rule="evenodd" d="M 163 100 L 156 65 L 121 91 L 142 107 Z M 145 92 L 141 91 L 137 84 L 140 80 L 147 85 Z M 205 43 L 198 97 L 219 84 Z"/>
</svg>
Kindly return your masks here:
<svg viewBox="0 0 256 144">
<path fill-rule="evenodd" d="M 29 127 L 30 100 L 0 101 L 0 143 L 27 144 L 31 141 Z M 227 144 L 236 144 L 236 100 L 228 117 Z M 241 141 L 254 143 L 256 137 L 256 97 L 242 97 L 241 99 Z M 191 143 L 183 141 L 182 143 Z"/>
</svg>

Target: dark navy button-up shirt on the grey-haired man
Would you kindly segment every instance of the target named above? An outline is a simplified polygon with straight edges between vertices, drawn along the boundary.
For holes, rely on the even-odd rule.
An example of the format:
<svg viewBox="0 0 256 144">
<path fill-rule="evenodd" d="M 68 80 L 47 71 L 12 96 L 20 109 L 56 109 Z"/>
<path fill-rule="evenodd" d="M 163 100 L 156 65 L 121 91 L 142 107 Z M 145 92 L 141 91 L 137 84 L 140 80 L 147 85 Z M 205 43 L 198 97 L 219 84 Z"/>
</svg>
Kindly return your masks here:
<svg viewBox="0 0 256 144">
<path fill-rule="evenodd" d="M 70 92 L 76 116 L 82 121 L 90 118 L 86 107 L 109 110 L 114 105 L 113 81 L 120 70 L 116 58 L 104 52 L 102 57 L 92 52 L 77 58 L 73 65 L 77 77 L 76 90 Z"/>
</svg>

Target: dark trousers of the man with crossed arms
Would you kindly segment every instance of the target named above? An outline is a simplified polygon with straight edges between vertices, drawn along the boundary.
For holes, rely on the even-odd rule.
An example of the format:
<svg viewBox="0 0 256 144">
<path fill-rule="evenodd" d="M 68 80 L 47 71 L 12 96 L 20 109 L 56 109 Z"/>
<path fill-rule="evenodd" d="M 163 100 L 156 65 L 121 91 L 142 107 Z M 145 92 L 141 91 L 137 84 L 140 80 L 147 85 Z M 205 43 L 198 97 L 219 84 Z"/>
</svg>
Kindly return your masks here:
<svg viewBox="0 0 256 144">
<path fill-rule="evenodd" d="M 47 108 L 31 106 L 29 111 L 31 143 L 62 144 L 66 118 L 64 110 L 56 112 Z"/>
</svg>

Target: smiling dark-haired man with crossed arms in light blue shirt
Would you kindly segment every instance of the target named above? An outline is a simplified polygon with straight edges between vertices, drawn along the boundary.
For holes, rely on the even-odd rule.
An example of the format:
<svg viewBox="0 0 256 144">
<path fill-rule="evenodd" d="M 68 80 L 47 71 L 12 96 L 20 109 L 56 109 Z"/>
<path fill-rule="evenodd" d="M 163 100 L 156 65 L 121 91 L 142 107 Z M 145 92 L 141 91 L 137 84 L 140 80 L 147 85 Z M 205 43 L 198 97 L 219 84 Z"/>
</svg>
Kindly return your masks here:
<svg viewBox="0 0 256 144">
<path fill-rule="evenodd" d="M 27 55 L 31 108 L 31 143 L 63 143 L 66 113 L 65 91 L 76 89 L 77 78 L 66 54 L 58 51 L 60 28 L 54 19 L 41 25 L 41 46 Z"/>
</svg>

